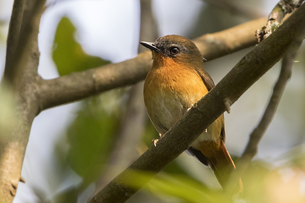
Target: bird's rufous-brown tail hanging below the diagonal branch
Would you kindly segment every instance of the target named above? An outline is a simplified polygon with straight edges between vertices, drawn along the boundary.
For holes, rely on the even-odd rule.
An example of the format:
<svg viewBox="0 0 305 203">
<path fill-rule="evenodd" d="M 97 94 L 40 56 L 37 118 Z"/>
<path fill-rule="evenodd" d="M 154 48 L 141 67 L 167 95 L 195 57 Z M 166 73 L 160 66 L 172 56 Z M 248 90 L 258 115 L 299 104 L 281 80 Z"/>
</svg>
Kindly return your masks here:
<svg viewBox="0 0 305 203">
<path fill-rule="evenodd" d="M 214 153 L 213 156 L 208 157 L 208 159 L 209 166 L 213 170 L 219 184 L 222 188 L 225 188 L 226 186 L 228 186 L 227 184 L 230 175 L 235 170 L 235 165 L 222 140 L 219 152 Z M 239 188 L 236 189 L 236 192 L 242 192 L 242 189 L 242 180 L 239 179 Z"/>
</svg>

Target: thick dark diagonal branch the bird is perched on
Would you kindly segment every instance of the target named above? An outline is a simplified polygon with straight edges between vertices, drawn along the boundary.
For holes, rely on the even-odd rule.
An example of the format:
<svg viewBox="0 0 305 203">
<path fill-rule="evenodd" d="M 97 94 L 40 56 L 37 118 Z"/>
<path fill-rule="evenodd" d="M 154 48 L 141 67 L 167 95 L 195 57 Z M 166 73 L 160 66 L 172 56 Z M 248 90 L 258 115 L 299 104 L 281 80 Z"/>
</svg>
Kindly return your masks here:
<svg viewBox="0 0 305 203">
<path fill-rule="evenodd" d="M 119 203 L 130 198 L 139 189 L 122 184 L 134 181 L 130 172 L 157 173 L 185 151 L 204 129 L 224 113 L 224 100 L 233 104 L 283 56 L 295 38 L 297 30 L 304 23 L 305 5 L 302 5 L 278 30 L 246 54 L 206 96 L 198 101 L 197 105 L 160 138 L 156 147 L 150 147 L 89 202 Z M 137 180 L 140 182 L 138 185 L 144 185 L 152 176 L 145 180 Z"/>
</svg>

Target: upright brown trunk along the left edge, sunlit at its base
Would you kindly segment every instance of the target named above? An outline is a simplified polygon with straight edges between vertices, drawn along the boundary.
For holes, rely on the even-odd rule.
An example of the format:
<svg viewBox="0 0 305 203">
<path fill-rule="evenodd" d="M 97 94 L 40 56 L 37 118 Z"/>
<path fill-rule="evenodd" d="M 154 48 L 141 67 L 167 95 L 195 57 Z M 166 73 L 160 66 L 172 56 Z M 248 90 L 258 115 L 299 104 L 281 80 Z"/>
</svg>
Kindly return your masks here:
<svg viewBox="0 0 305 203">
<path fill-rule="evenodd" d="M 16 114 L 19 120 L 9 135 L 0 138 L 0 197 L 12 202 L 16 194 L 30 128 L 39 109 L 36 80 L 39 62 L 38 29 L 45 1 L 15 1 L 10 21 L 5 61 L 4 82 L 14 89 Z M 16 20 L 16 22 L 15 22 Z"/>
</svg>

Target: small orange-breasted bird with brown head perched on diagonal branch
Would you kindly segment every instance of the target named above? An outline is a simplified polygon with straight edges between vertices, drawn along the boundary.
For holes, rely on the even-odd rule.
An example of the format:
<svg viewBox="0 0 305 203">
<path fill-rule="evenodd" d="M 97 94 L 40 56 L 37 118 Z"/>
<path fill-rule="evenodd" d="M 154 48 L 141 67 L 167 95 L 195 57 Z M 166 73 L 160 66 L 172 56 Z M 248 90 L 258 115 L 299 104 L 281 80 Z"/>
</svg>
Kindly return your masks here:
<svg viewBox="0 0 305 203">
<path fill-rule="evenodd" d="M 195 43 L 181 35 L 165 35 L 155 42 L 140 42 L 152 52 L 152 67 L 144 83 L 147 114 L 162 137 L 214 86 Z M 154 141 L 156 146 L 157 140 Z M 225 145 L 224 115 L 218 117 L 186 152 L 210 166 L 225 188 L 235 170 Z M 239 179 L 237 191 L 242 191 Z"/>
</svg>

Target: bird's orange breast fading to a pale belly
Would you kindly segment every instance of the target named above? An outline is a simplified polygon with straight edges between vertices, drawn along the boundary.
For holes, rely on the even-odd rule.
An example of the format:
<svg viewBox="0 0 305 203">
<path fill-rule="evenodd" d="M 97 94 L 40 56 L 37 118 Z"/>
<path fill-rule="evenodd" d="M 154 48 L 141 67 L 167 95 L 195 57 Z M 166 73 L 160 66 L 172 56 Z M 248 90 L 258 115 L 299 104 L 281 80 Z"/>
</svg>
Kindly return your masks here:
<svg viewBox="0 0 305 203">
<path fill-rule="evenodd" d="M 154 60 L 144 84 L 147 113 L 162 135 L 206 93 L 208 90 L 194 68 L 166 57 Z"/>
</svg>

